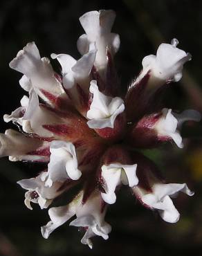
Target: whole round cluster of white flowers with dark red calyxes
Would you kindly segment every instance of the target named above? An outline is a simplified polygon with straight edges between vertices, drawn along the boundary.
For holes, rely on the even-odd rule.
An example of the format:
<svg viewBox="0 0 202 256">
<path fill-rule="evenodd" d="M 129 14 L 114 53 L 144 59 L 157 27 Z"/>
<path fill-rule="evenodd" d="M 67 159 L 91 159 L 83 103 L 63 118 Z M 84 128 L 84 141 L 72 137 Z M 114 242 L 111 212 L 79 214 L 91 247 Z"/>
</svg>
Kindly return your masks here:
<svg viewBox="0 0 202 256">
<path fill-rule="evenodd" d="M 112 10 L 80 17 L 85 30 L 77 40 L 80 60 L 51 55 L 62 75 L 40 56 L 34 42 L 17 53 L 10 67 L 23 73 L 19 84 L 29 97 L 24 95 L 21 107 L 3 117 L 21 127 L 20 132 L 8 129 L 0 135 L 1 156 L 46 165 L 38 176 L 18 181 L 27 190 L 29 209 L 30 202 L 48 208 L 58 196 L 80 188 L 71 203 L 49 208 L 43 237 L 74 217 L 69 225 L 84 227 L 82 243 L 90 248 L 91 237 L 108 239 L 111 226 L 104 216 L 121 185 L 170 223 L 179 219 L 171 197 L 193 194 L 185 183 L 165 183 L 156 165 L 137 151 L 169 142 L 183 147 L 182 122 L 200 120 L 196 111 L 179 114 L 159 104 L 166 85 L 181 79 L 191 56 L 177 48 L 177 39 L 160 44 L 156 55 L 144 57 L 140 75 L 122 93 L 113 64 L 120 46 L 120 37 L 111 33 L 115 17 Z"/>
</svg>

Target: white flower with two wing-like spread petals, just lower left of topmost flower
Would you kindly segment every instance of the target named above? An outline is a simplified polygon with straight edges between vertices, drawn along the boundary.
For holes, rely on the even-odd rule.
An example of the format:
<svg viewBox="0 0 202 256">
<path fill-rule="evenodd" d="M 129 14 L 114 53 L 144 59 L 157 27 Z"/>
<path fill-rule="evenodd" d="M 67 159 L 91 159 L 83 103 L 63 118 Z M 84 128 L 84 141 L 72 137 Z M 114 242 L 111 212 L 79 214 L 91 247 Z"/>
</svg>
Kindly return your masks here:
<svg viewBox="0 0 202 256">
<path fill-rule="evenodd" d="M 75 60 L 67 54 L 51 54 L 51 57 L 57 58 L 62 66 L 62 81 L 65 89 L 71 89 L 76 82 L 82 84 L 86 78 L 89 78 L 89 73 L 95 62 L 95 55 L 95 49 L 83 55 L 80 60 Z"/>
</svg>

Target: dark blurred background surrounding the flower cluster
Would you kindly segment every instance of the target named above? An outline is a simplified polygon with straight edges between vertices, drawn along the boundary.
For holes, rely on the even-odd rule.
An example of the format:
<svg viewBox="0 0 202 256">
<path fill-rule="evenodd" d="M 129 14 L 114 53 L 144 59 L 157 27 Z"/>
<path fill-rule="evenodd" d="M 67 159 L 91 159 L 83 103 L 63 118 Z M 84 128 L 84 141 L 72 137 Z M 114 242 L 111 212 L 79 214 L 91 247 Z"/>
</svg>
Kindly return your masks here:
<svg viewBox="0 0 202 256">
<path fill-rule="evenodd" d="M 84 12 L 116 10 L 113 32 L 121 39 L 116 66 L 122 86 L 138 75 L 145 55 L 155 54 L 158 45 L 176 37 L 179 48 L 192 54 L 185 65 L 181 82 L 169 86 L 165 104 L 172 109 L 197 109 L 202 112 L 202 1 L 192 0 L 66 0 L 20 1 L 0 3 L 0 76 L 1 132 L 14 128 L 3 122 L 3 114 L 19 107 L 24 91 L 19 86 L 20 73 L 8 63 L 26 43 L 35 41 L 42 56 L 68 53 L 75 58 L 77 38 L 84 33 L 78 18 Z M 53 64 L 55 65 L 55 64 Z M 24 190 L 19 179 L 30 178 L 42 167 L 28 163 L 0 161 L 0 255 L 201 255 L 202 249 L 202 124 L 183 127 L 185 148 L 167 145 L 144 153 L 160 167 L 167 181 L 187 183 L 195 195 L 174 199 L 181 212 L 178 223 L 163 222 L 156 212 L 143 208 L 130 192 L 118 192 L 116 205 L 109 207 L 106 220 L 112 232 L 108 241 L 93 239 L 94 248 L 80 244 L 82 232 L 64 225 L 48 240 L 40 226 L 48 221 L 46 210 L 24 205 Z M 192 138 L 192 140 L 190 140 Z"/>
</svg>

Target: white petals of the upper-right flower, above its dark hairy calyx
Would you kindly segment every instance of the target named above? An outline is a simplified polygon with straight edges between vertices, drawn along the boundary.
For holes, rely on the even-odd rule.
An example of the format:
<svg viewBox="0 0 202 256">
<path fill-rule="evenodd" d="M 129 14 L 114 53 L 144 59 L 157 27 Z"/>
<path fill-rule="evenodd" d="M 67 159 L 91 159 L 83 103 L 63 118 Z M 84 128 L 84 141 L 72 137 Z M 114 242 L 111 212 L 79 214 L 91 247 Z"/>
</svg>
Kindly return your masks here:
<svg viewBox="0 0 202 256">
<path fill-rule="evenodd" d="M 178 40 L 172 39 L 171 44 L 160 44 L 156 55 L 148 55 L 143 59 L 143 77 L 149 70 L 154 86 L 165 82 L 181 80 L 183 64 L 191 60 L 190 53 L 177 48 Z M 152 83 L 152 82 L 151 82 Z"/>
</svg>

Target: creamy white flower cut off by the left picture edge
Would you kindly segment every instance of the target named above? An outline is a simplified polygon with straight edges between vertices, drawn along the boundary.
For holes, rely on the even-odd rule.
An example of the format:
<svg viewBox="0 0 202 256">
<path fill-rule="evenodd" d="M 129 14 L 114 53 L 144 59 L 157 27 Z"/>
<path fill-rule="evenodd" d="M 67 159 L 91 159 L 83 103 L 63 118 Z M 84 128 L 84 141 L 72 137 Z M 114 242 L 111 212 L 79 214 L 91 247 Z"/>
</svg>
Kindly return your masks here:
<svg viewBox="0 0 202 256">
<path fill-rule="evenodd" d="M 9 156 L 10 161 L 47 161 L 47 156 L 30 154 L 46 147 L 48 143 L 26 137 L 12 129 L 6 130 L 5 134 L 0 134 L 0 156 Z"/>
</svg>

